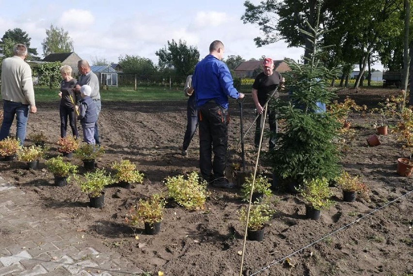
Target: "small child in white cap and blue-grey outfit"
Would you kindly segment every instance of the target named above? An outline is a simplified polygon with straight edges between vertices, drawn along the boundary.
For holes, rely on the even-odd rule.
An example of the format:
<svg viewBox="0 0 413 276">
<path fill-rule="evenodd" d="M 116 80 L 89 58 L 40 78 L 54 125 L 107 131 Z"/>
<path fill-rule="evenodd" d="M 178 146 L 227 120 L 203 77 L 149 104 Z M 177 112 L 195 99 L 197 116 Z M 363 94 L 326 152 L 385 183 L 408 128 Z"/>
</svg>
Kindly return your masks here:
<svg viewBox="0 0 413 276">
<path fill-rule="evenodd" d="M 95 123 L 97 121 L 95 102 L 90 97 L 92 88 L 85 84 L 80 87 L 80 95 L 82 100 L 80 101 L 80 114 L 78 119 L 83 129 L 83 141 L 88 144 L 95 144 Z"/>
</svg>

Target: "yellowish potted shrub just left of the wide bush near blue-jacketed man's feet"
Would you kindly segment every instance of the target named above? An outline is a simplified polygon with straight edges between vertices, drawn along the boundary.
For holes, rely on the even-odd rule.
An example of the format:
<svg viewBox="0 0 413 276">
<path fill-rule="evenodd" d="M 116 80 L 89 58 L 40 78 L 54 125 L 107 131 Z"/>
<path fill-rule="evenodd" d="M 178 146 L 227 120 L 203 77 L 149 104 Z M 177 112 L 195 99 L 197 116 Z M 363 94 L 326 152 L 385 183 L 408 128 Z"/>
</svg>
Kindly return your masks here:
<svg viewBox="0 0 413 276">
<path fill-rule="evenodd" d="M 121 160 L 119 163 L 113 162 L 111 168 L 116 170 L 113 176 L 119 185 L 130 188 L 131 183 L 143 183 L 143 173 L 136 169 L 136 165 L 129 160 Z"/>
</svg>

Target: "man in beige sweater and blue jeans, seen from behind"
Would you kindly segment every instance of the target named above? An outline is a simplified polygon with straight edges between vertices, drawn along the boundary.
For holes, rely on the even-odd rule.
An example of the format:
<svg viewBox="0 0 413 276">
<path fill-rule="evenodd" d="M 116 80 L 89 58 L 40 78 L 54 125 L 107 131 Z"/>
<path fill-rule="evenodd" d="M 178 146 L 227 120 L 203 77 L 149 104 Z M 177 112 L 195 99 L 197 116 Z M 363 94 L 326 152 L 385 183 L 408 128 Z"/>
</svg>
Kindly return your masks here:
<svg viewBox="0 0 413 276">
<path fill-rule="evenodd" d="M 3 98 L 3 123 L 0 140 L 10 136 L 10 127 L 16 116 L 16 138 L 23 145 L 26 138 L 26 124 L 30 113 L 36 113 L 32 69 L 24 60 L 27 47 L 16 44 L 14 56 L 3 60 L 1 65 L 1 96 Z"/>
</svg>

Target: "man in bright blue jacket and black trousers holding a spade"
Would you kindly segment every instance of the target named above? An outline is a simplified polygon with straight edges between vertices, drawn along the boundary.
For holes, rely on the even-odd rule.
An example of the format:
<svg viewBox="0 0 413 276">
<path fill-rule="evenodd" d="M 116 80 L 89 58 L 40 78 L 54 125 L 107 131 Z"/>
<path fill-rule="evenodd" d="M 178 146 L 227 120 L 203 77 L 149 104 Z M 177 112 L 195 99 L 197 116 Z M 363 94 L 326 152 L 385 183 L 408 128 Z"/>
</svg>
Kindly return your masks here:
<svg viewBox="0 0 413 276">
<path fill-rule="evenodd" d="M 224 174 L 228 145 L 228 96 L 242 99 L 244 94 L 235 89 L 231 73 L 221 61 L 223 54 L 222 42 L 213 41 L 209 46 L 209 55 L 196 64 L 192 86 L 196 91 L 198 107 L 201 175 L 213 187 L 231 189 L 235 185 L 229 183 Z"/>
</svg>

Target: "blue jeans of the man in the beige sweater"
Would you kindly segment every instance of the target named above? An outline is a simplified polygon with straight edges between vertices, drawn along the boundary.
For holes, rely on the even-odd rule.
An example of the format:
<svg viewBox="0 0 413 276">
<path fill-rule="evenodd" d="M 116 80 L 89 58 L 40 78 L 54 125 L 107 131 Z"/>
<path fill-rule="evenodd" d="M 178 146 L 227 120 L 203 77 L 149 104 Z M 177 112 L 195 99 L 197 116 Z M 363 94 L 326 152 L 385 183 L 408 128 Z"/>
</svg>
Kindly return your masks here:
<svg viewBox="0 0 413 276">
<path fill-rule="evenodd" d="M 3 100 L 3 123 L 0 129 L 0 140 L 10 136 L 10 128 L 16 115 L 16 138 L 23 145 L 26 139 L 26 124 L 29 117 L 29 105 Z"/>
</svg>

